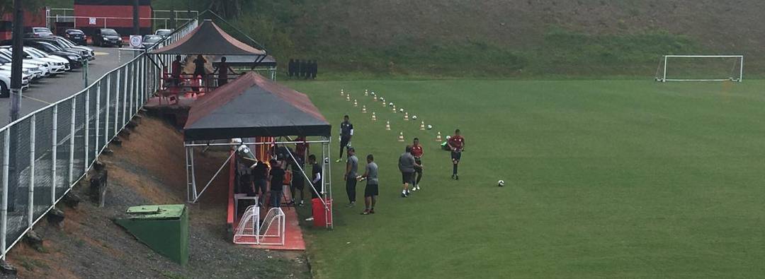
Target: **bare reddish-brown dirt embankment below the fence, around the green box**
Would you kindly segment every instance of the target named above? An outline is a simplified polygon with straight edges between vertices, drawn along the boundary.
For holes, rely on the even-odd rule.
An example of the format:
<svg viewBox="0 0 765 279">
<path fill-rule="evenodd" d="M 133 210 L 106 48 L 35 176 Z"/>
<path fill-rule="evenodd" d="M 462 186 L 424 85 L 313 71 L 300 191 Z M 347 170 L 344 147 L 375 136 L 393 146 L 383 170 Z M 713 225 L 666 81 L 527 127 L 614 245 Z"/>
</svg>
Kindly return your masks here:
<svg viewBox="0 0 765 279">
<path fill-rule="evenodd" d="M 190 260 L 187 267 L 169 261 L 138 242 L 112 222 L 127 207 L 141 204 L 183 204 L 186 171 L 183 136 L 168 123 L 144 117 L 122 146 L 102 156 L 109 171 L 106 205 L 88 200 L 88 185 L 73 193 L 79 207 L 60 205 L 63 228 L 42 220 L 34 230 L 44 237 L 42 251 L 18 244 L 8 261 L 22 278 L 213 278 L 310 277 L 302 254 L 281 254 L 233 245 L 226 238 L 227 179 L 210 186 L 190 209 Z M 197 155 L 198 178 L 216 171 L 226 154 Z"/>
</svg>

